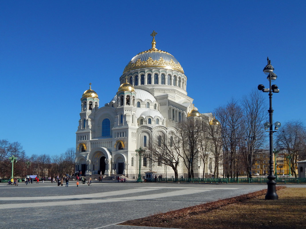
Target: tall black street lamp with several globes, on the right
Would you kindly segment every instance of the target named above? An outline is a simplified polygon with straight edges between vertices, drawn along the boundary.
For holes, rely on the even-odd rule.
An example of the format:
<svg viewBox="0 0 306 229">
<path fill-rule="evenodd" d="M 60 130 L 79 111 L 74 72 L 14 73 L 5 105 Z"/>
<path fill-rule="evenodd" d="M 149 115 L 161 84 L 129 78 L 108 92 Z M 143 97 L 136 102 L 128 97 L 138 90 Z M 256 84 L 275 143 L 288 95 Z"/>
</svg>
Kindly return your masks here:
<svg viewBox="0 0 306 229">
<path fill-rule="evenodd" d="M 271 85 L 271 82 L 276 80 L 277 75 L 273 72 L 274 71 L 274 67 L 271 65 L 271 60 L 269 60 L 269 57 L 267 58 L 268 60 L 268 64 L 266 65 L 266 67 L 264 67 L 263 72 L 268 75 L 267 79 L 270 83 L 270 87 L 269 88 L 265 88 L 264 85 L 259 84 L 258 85 L 258 90 L 263 91 L 263 92 L 269 92 L 269 101 L 270 101 L 270 107 L 269 107 L 269 122 L 266 122 L 264 124 L 265 129 L 269 129 L 267 132 L 269 132 L 269 142 L 270 142 L 270 160 L 269 160 L 269 176 L 268 178 L 268 190 L 267 190 L 267 194 L 265 199 L 266 200 L 277 200 L 278 199 L 278 195 L 276 194 L 276 189 L 275 189 L 275 185 L 276 185 L 276 181 L 275 181 L 275 176 L 274 176 L 274 165 L 273 165 L 273 133 L 276 131 L 273 131 L 273 119 L 272 119 L 272 115 L 273 115 L 273 109 L 272 109 L 272 95 L 274 93 L 278 93 L 279 89 L 278 86 L 273 84 Z M 274 123 L 274 130 L 277 130 L 280 126 L 281 123 L 280 122 L 275 122 Z"/>
</svg>

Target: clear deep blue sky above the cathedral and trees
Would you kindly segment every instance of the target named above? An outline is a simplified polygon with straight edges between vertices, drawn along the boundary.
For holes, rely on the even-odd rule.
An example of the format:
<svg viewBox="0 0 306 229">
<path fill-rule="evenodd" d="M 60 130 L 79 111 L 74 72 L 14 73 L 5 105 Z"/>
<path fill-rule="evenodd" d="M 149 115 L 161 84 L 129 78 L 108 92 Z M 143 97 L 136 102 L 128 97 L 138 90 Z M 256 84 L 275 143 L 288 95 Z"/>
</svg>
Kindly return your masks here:
<svg viewBox="0 0 306 229">
<path fill-rule="evenodd" d="M 1 1 L 0 139 L 19 141 L 27 155 L 75 147 L 88 84 L 100 107 L 109 102 L 153 30 L 201 113 L 268 87 L 269 56 L 280 89 L 274 121 L 305 122 L 305 10 L 305 1 Z"/>
</svg>

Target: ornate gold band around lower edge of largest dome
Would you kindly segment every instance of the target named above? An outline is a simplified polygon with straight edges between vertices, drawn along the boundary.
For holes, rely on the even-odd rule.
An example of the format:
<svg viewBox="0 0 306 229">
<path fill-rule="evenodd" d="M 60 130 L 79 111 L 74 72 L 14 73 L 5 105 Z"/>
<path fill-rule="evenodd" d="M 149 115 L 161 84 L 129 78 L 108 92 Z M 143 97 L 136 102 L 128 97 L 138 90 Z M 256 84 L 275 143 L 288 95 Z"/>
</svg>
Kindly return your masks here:
<svg viewBox="0 0 306 229">
<path fill-rule="evenodd" d="M 123 73 L 125 73 L 126 71 L 129 71 L 129 70 L 136 69 L 136 68 L 139 68 L 139 67 L 144 67 L 144 66 L 146 66 L 146 67 L 170 67 L 170 68 L 174 68 L 175 70 L 178 70 L 178 71 L 180 71 L 184 74 L 184 70 L 183 70 L 180 63 L 177 62 L 177 64 L 175 64 L 175 62 L 172 59 L 170 61 L 165 61 L 162 57 L 160 57 L 159 60 L 153 60 L 152 57 L 149 57 L 146 61 L 141 61 L 140 59 L 138 59 L 136 61 L 136 63 L 131 63 L 130 62 L 125 67 Z"/>
</svg>

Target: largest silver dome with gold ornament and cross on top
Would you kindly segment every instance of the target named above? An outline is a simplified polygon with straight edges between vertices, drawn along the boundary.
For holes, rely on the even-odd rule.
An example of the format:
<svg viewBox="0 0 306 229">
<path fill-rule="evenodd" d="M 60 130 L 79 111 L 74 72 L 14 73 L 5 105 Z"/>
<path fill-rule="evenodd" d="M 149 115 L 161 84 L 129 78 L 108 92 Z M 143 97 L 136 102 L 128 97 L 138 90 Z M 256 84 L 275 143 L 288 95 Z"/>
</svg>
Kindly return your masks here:
<svg viewBox="0 0 306 229">
<path fill-rule="evenodd" d="M 181 64 L 177 61 L 177 59 L 175 59 L 174 56 L 172 56 L 170 53 L 155 48 L 156 42 L 154 36 L 157 33 L 155 35 L 152 34 L 152 48 L 147 51 L 138 53 L 136 56 L 134 56 L 129 62 L 129 64 L 125 66 L 123 74 L 130 70 L 135 70 L 144 67 L 162 67 L 166 69 L 176 70 L 184 74 L 184 70 Z"/>
</svg>

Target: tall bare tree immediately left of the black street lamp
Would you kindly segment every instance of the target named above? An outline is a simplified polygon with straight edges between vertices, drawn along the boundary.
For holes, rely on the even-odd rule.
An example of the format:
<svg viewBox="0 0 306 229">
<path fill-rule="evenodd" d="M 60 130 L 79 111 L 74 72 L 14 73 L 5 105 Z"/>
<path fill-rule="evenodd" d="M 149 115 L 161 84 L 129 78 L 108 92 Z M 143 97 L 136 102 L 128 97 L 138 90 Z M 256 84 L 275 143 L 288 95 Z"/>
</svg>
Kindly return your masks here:
<svg viewBox="0 0 306 229">
<path fill-rule="evenodd" d="M 267 139 L 267 135 L 263 131 L 263 123 L 268 118 L 267 105 L 264 101 L 262 93 L 258 90 L 252 90 L 242 100 L 244 117 L 241 120 L 243 120 L 244 136 L 240 137 L 246 143 L 244 157 L 248 165 L 248 176 L 252 174 L 253 161 Z"/>
</svg>

